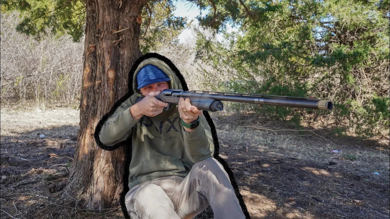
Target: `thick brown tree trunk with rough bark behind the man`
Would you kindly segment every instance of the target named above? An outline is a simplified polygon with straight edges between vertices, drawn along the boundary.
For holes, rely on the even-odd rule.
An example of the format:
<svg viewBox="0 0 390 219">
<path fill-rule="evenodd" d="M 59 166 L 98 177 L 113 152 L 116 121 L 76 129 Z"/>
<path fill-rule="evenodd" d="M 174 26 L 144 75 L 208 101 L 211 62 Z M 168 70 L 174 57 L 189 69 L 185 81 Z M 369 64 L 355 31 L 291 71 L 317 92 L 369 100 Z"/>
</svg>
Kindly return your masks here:
<svg viewBox="0 0 390 219">
<path fill-rule="evenodd" d="M 128 92 L 129 70 L 142 55 L 137 17 L 145 2 L 87 0 L 85 4 L 80 130 L 63 198 L 71 196 L 83 207 L 104 209 L 119 206 L 123 176 L 128 171 L 124 170 L 126 151 L 124 147 L 115 151 L 97 147 L 94 131 L 103 115 Z"/>
</svg>

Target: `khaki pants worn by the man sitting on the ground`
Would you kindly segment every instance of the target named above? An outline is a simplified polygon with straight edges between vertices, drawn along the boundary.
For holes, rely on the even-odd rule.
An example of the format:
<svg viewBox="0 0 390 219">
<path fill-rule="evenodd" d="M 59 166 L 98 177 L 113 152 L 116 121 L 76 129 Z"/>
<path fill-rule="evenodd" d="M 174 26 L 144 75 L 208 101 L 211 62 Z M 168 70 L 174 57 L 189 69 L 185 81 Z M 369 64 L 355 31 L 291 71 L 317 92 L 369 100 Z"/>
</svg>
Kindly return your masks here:
<svg viewBox="0 0 390 219">
<path fill-rule="evenodd" d="M 190 219 L 208 205 L 215 219 L 245 219 L 227 173 L 211 157 L 185 178 L 161 177 L 133 187 L 125 201 L 132 219 Z"/>
</svg>

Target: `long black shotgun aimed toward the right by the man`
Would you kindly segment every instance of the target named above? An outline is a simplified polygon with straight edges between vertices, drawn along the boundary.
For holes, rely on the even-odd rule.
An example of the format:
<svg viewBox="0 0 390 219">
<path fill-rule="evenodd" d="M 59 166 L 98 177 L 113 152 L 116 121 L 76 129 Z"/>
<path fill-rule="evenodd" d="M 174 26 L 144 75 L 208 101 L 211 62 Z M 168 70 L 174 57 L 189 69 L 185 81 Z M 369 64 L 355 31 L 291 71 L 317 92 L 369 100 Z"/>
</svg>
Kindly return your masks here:
<svg viewBox="0 0 390 219">
<path fill-rule="evenodd" d="M 246 102 L 261 105 L 290 106 L 323 110 L 331 110 L 333 108 L 332 101 L 324 101 L 314 98 L 285 97 L 262 94 L 239 94 L 201 90 L 184 91 L 165 89 L 156 96 L 158 100 L 168 103 L 168 107 L 165 109 L 169 108 L 169 104 L 178 104 L 180 97 L 183 97 L 184 99 L 189 98 L 191 104 L 196 108 L 211 112 L 221 111 L 223 109 L 223 104 L 221 101 Z M 137 103 L 141 101 L 142 98 L 143 97 L 138 97 L 135 102 Z"/>
</svg>

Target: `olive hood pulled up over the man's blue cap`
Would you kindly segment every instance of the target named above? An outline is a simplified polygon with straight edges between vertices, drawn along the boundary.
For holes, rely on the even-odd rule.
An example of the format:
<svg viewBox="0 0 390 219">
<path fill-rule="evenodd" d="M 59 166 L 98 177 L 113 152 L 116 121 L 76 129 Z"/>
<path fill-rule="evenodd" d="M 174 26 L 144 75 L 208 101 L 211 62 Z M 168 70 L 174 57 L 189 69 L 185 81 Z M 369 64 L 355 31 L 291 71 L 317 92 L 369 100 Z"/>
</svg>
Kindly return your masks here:
<svg viewBox="0 0 390 219">
<path fill-rule="evenodd" d="M 173 72 L 173 70 L 169 67 L 169 65 L 162 60 L 158 58 L 148 58 L 144 61 L 142 61 L 137 69 L 135 70 L 135 73 L 133 75 L 133 91 L 134 94 L 137 95 L 137 97 L 142 97 L 140 90 L 137 89 L 138 84 L 137 84 L 137 74 L 138 71 L 145 65 L 155 65 L 158 68 L 160 68 L 165 74 L 167 74 L 168 78 L 170 78 L 170 81 L 168 81 L 169 88 L 170 89 L 178 89 L 178 90 L 183 90 L 183 87 L 181 86 L 181 83 L 179 81 L 179 78 L 177 78 L 176 74 Z"/>
</svg>

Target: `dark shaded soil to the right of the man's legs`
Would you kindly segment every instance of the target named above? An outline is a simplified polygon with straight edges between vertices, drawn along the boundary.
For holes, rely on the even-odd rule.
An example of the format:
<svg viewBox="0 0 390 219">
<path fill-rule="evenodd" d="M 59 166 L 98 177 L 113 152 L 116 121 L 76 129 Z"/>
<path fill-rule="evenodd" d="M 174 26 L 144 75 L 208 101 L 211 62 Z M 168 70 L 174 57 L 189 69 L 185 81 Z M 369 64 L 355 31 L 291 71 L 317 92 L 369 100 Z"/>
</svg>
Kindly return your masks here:
<svg viewBox="0 0 390 219">
<path fill-rule="evenodd" d="M 225 154 L 255 218 L 386 218 L 389 184 L 282 154 Z"/>
</svg>

